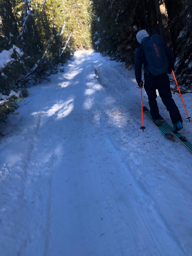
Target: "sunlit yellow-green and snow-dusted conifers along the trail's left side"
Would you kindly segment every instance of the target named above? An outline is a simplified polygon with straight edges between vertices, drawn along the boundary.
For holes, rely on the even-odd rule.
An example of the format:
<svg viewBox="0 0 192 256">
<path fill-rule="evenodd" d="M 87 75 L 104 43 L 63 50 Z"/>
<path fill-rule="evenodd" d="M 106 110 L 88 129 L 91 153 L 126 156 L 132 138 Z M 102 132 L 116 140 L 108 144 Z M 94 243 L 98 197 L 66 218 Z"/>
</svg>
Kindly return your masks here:
<svg viewBox="0 0 192 256">
<path fill-rule="evenodd" d="M 90 49 L 90 12 L 89 0 L 0 0 L 0 52 L 9 55 L 0 98 L 48 79 L 75 49 Z M 0 122 L 14 106 L 1 101 Z"/>
</svg>

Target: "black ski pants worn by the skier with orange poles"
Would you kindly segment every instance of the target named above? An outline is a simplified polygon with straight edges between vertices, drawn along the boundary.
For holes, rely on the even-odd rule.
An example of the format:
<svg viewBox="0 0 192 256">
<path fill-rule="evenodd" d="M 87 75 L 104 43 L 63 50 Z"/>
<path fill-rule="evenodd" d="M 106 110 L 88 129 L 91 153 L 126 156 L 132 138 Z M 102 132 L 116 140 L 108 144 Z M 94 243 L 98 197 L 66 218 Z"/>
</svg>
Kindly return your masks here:
<svg viewBox="0 0 192 256">
<path fill-rule="evenodd" d="M 148 96 L 148 104 L 150 107 L 150 113 L 153 119 L 159 119 L 159 108 L 157 106 L 157 93 L 162 99 L 163 104 L 166 106 L 167 111 L 169 111 L 172 123 L 175 124 L 177 121 L 182 121 L 180 112 L 172 99 L 172 92 L 170 89 L 169 76 L 164 73 L 160 76 L 152 76 L 144 73 L 145 83 L 144 88 Z"/>
</svg>

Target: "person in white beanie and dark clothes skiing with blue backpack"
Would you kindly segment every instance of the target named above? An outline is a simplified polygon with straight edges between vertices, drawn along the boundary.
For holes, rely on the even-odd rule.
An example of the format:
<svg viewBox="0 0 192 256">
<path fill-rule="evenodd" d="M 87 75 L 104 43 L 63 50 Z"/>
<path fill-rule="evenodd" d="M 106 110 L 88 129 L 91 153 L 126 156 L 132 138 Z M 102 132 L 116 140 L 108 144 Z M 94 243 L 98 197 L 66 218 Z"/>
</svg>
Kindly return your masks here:
<svg viewBox="0 0 192 256">
<path fill-rule="evenodd" d="M 157 89 L 163 104 L 166 106 L 167 111 L 169 111 L 170 118 L 174 125 L 173 130 L 179 131 L 183 128 L 183 120 L 174 99 L 172 99 L 169 76 L 166 73 L 167 59 L 170 67 L 174 70 L 173 52 L 166 43 L 161 41 L 159 35 L 149 37 L 148 32 L 144 29 L 137 33 L 136 38 L 140 43 L 140 47 L 135 52 L 135 78 L 138 86 L 140 88 L 144 86 L 145 88 L 151 116 L 154 119 L 155 124 L 160 125 L 159 108 L 156 100 Z M 152 44 L 150 40 L 152 41 Z M 150 49 L 150 44 L 154 47 L 154 55 L 152 55 L 153 51 Z M 165 55 L 165 58 L 162 57 L 163 54 Z M 143 83 L 142 80 L 142 64 L 144 66 L 145 83 Z"/>
</svg>

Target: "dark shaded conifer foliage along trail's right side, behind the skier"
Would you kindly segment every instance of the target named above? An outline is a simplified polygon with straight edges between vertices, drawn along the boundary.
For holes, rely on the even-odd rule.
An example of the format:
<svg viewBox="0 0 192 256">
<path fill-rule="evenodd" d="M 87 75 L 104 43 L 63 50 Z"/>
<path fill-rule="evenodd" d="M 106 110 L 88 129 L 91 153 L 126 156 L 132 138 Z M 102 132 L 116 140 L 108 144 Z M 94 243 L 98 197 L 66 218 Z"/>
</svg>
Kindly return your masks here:
<svg viewBox="0 0 192 256">
<path fill-rule="evenodd" d="M 93 47 L 103 55 L 134 64 L 136 34 L 146 29 L 173 47 L 180 84 L 192 84 L 191 0 L 93 0 Z"/>
</svg>

